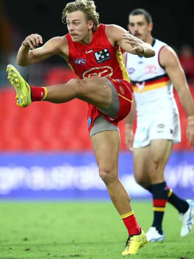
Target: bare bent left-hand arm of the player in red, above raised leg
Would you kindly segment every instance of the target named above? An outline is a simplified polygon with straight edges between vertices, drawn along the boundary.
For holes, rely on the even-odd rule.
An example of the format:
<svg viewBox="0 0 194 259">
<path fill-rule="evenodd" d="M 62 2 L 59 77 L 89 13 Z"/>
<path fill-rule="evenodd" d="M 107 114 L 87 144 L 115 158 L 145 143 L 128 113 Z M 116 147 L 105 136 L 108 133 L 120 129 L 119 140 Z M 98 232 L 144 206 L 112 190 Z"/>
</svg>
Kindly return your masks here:
<svg viewBox="0 0 194 259">
<path fill-rule="evenodd" d="M 18 65 L 28 66 L 43 61 L 53 55 L 59 55 L 68 60 L 69 48 L 68 40 L 65 36 L 54 37 L 39 47 L 42 42 L 42 37 L 38 34 L 31 34 L 26 37 L 18 51 Z"/>
</svg>

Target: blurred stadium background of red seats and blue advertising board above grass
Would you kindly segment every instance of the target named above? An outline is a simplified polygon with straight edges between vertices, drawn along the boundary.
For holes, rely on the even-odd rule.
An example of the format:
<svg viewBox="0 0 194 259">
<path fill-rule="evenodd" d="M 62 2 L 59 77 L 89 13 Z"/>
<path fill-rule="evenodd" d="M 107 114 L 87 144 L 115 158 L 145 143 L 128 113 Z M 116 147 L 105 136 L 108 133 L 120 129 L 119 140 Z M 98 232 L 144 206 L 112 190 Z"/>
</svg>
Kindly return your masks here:
<svg viewBox="0 0 194 259">
<path fill-rule="evenodd" d="M 16 65 L 21 42 L 31 33 L 43 41 L 67 33 L 61 13 L 68 1 L 0 0 L 0 198 L 5 199 L 106 199 L 98 177 L 87 129 L 87 104 L 80 100 L 54 105 L 37 102 L 21 109 L 5 73 L 13 64 L 22 76 L 30 74 L 33 86 L 64 83 L 75 77 L 66 62 L 52 57 L 22 68 Z M 194 99 L 193 1 L 96 1 L 100 22 L 127 28 L 128 13 L 145 8 L 153 17 L 152 35 L 177 52 Z M 108 7 L 108 8 L 107 8 Z M 167 183 L 185 198 L 194 197 L 194 150 L 186 138 L 186 117 L 175 92 L 181 117 L 182 142 L 174 145 L 166 167 Z M 124 144 L 124 121 L 119 124 L 121 152 L 119 175 L 131 197 L 150 197 L 135 183 L 132 154 Z"/>
</svg>

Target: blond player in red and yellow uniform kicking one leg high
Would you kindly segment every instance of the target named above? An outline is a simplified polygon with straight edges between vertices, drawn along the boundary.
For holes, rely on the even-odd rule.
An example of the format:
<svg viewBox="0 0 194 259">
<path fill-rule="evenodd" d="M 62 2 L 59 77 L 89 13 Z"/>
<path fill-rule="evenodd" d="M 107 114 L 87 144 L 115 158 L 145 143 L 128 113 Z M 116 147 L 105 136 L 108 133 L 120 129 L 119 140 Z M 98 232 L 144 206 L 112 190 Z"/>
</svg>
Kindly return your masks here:
<svg viewBox="0 0 194 259">
<path fill-rule="evenodd" d="M 128 37 L 126 30 L 117 25 L 98 24 L 98 18 L 93 1 L 68 3 L 62 19 L 67 23 L 69 33 L 50 39 L 37 49 L 35 47 L 43 42 L 42 37 L 31 34 L 22 42 L 17 55 L 17 62 L 22 66 L 59 55 L 82 80 L 71 79 L 67 84 L 47 88 L 30 87 L 12 65 L 7 66 L 8 79 L 16 89 L 17 105 L 21 107 L 39 100 L 62 103 L 78 98 L 88 102 L 88 128 L 99 174 L 128 229 L 129 237 L 122 254 L 136 254 L 138 248 L 147 243 L 147 238 L 118 178 L 118 122 L 129 113 L 133 100 L 133 89 L 119 46 L 144 57 L 154 56 L 155 51 L 150 44 Z"/>
</svg>

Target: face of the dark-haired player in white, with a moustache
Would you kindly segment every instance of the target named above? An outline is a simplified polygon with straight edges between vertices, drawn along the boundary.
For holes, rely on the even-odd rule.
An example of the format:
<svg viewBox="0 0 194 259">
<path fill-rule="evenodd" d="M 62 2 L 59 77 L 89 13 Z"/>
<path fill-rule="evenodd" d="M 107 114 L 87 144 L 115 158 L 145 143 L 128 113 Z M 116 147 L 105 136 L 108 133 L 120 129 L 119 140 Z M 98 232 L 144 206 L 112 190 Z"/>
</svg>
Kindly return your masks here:
<svg viewBox="0 0 194 259">
<path fill-rule="evenodd" d="M 153 23 L 147 24 L 145 16 L 143 14 L 130 15 L 128 30 L 130 33 L 138 39 L 146 42 L 147 37 L 150 35 L 153 28 Z"/>
</svg>

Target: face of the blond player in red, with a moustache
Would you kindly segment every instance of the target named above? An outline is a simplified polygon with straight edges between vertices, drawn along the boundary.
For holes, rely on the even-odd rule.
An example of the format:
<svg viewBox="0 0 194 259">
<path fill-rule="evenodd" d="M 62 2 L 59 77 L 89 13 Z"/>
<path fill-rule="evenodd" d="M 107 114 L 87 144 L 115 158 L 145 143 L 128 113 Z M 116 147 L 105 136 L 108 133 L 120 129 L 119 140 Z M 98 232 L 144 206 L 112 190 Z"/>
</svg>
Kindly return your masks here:
<svg viewBox="0 0 194 259">
<path fill-rule="evenodd" d="M 93 27 L 93 21 L 86 22 L 84 13 L 81 11 L 68 13 L 66 22 L 73 42 L 82 41 Z"/>
</svg>

